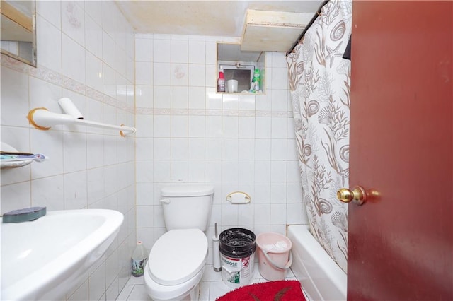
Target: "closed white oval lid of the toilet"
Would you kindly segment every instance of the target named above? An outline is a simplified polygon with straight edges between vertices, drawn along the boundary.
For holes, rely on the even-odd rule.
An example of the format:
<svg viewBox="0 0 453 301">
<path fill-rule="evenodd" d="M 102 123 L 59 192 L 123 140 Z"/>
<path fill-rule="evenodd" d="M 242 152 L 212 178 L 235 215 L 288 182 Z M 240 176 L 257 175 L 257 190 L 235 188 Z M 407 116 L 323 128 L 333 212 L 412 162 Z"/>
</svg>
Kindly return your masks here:
<svg viewBox="0 0 453 301">
<path fill-rule="evenodd" d="M 193 278 L 205 266 L 207 238 L 200 229 L 170 230 L 149 252 L 149 275 L 161 285 L 176 285 Z"/>
</svg>

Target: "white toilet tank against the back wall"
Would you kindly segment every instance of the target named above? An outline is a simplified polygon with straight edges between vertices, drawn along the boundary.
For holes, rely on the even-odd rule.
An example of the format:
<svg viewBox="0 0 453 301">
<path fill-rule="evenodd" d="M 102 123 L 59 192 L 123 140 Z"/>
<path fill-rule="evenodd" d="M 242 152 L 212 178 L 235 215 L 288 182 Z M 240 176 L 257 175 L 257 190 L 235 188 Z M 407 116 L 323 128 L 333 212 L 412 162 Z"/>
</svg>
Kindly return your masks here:
<svg viewBox="0 0 453 301">
<path fill-rule="evenodd" d="M 161 189 L 167 230 L 197 228 L 203 232 L 211 216 L 211 186 L 169 186 Z"/>
</svg>

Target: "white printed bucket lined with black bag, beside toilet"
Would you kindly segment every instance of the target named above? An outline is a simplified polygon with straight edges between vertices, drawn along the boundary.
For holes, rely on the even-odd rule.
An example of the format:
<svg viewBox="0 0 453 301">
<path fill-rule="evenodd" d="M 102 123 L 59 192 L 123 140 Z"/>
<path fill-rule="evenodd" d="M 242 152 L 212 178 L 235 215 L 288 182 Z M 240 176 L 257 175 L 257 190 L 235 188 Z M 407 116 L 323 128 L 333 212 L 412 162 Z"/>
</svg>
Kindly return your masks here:
<svg viewBox="0 0 453 301">
<path fill-rule="evenodd" d="M 248 285 L 253 279 L 256 236 L 243 228 L 226 229 L 219 235 L 222 281 L 231 288 Z"/>
</svg>

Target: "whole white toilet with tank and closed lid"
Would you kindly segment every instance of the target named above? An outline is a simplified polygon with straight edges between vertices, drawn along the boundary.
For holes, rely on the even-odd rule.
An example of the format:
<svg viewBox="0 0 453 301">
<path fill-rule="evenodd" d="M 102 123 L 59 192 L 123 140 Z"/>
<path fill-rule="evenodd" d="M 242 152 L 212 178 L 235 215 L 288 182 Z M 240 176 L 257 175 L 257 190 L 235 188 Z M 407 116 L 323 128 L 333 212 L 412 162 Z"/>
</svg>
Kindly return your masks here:
<svg viewBox="0 0 453 301">
<path fill-rule="evenodd" d="M 211 215 L 214 187 L 161 189 L 167 232 L 149 252 L 144 282 L 152 300 L 197 300 L 205 271 L 208 242 L 204 231 Z"/>
</svg>

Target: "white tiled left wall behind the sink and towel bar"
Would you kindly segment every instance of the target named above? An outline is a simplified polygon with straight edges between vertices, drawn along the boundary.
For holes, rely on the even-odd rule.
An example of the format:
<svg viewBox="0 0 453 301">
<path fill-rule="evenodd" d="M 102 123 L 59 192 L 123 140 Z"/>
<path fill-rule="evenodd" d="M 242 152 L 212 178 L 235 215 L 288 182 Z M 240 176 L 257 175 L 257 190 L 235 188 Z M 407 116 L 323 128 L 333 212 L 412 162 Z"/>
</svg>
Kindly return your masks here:
<svg viewBox="0 0 453 301">
<path fill-rule="evenodd" d="M 34 107 L 62 112 L 57 100 L 69 97 L 88 120 L 134 126 L 134 34 L 113 1 L 37 1 L 37 13 L 38 68 L 1 55 L 1 141 L 50 160 L 1 170 L 1 213 L 30 206 L 122 212 L 117 239 L 66 296 L 115 300 L 130 276 L 136 240 L 134 136 L 85 126 L 40 131 L 25 116 Z M 141 78 L 147 86 L 137 87 L 142 99 L 153 93 L 152 70 L 144 67 L 149 73 Z M 150 135 L 140 146 L 152 145 L 152 116 L 139 123 Z M 143 147 L 139 156 L 149 158 Z M 149 173 L 149 166 L 144 167 L 143 175 Z M 141 217 L 152 216 L 154 206 L 145 207 L 149 210 Z"/>
</svg>

